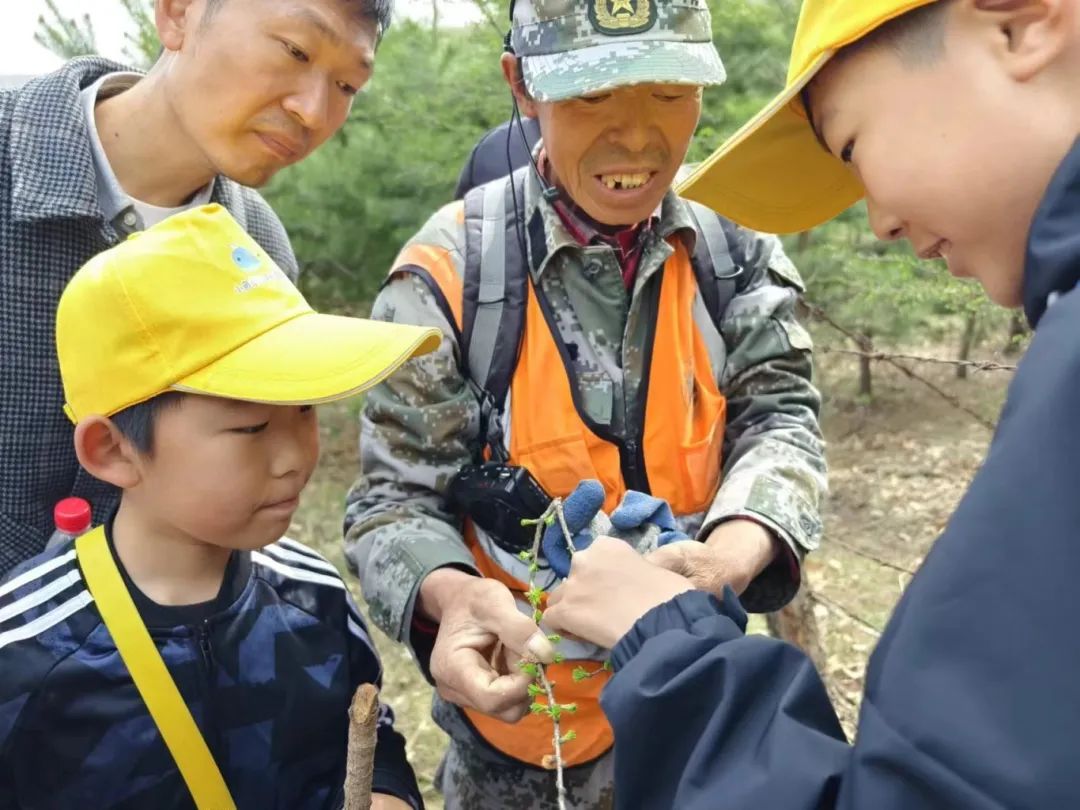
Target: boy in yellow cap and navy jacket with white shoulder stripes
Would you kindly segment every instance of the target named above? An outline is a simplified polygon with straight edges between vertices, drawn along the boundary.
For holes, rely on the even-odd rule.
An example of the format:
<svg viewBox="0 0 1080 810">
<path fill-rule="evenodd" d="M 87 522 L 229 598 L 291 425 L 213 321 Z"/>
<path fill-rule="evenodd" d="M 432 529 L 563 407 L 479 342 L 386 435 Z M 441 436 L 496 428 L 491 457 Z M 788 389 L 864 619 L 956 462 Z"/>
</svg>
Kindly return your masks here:
<svg viewBox="0 0 1080 810">
<path fill-rule="evenodd" d="M 284 537 L 313 406 L 438 333 L 314 312 L 210 205 L 93 258 L 56 346 L 104 527 L 0 584 L 0 807 L 334 808 L 378 656 L 333 565 Z M 422 806 L 379 708 L 376 808 Z"/>
</svg>

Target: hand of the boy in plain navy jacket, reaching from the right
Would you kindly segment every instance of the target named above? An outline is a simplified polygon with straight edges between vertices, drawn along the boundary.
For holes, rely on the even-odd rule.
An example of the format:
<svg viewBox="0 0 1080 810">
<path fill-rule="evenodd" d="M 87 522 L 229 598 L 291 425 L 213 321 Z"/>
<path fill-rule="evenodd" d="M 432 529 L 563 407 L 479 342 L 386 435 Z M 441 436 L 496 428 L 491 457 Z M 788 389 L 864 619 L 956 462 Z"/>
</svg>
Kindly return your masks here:
<svg viewBox="0 0 1080 810">
<path fill-rule="evenodd" d="M 611 648 L 652 608 L 693 584 L 652 565 L 622 540 L 600 537 L 573 555 L 570 576 L 548 598 L 543 623 Z"/>
</svg>

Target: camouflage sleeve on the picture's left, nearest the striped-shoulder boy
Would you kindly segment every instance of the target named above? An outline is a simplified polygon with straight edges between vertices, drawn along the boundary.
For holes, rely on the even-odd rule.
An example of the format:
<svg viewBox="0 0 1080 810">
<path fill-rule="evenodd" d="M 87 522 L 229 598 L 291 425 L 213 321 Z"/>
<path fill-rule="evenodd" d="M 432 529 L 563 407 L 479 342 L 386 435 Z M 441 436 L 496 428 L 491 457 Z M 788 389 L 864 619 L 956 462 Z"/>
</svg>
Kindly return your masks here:
<svg viewBox="0 0 1080 810">
<path fill-rule="evenodd" d="M 361 416 L 361 475 L 349 492 L 346 557 L 360 576 L 372 621 L 408 644 L 427 666 L 430 638 L 414 633 L 420 582 L 436 568 L 474 570 L 458 519 L 443 492 L 470 461 L 480 408 L 457 360 L 457 345 L 427 285 L 394 279 L 372 318 L 443 329 L 431 354 L 406 363 L 373 389 Z"/>
</svg>

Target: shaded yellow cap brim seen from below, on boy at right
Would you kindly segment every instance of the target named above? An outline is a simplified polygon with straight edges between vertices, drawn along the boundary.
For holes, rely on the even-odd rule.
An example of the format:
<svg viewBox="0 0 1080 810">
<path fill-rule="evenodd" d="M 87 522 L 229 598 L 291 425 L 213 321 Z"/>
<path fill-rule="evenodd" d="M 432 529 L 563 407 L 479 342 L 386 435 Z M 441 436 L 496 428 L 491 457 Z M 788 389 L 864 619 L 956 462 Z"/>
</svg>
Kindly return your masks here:
<svg viewBox="0 0 1080 810">
<path fill-rule="evenodd" d="M 676 191 L 769 233 L 809 230 L 858 202 L 862 184 L 822 147 L 795 102 L 829 56 L 810 65 Z"/>
</svg>

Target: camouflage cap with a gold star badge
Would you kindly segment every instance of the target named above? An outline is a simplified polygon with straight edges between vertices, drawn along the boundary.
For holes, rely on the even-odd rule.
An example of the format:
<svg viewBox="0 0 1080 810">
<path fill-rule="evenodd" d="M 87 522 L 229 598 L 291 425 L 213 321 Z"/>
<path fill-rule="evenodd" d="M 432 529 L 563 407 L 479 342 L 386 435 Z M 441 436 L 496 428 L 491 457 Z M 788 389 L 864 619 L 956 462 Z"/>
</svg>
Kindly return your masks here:
<svg viewBox="0 0 1080 810">
<path fill-rule="evenodd" d="M 705 0 L 515 0 L 510 45 L 538 102 L 629 84 L 723 84 Z"/>
</svg>

